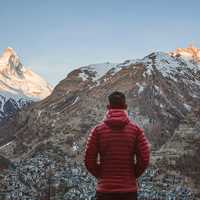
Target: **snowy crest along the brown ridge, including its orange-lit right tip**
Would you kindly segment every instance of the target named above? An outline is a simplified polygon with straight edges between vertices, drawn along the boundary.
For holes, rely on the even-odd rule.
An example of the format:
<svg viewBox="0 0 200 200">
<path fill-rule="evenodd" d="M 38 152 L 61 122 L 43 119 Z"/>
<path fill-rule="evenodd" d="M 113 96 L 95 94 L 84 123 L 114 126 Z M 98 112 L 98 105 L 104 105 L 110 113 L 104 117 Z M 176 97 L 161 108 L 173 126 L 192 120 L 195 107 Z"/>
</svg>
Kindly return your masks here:
<svg viewBox="0 0 200 200">
<path fill-rule="evenodd" d="M 92 64 L 72 71 L 69 76 L 78 73 L 83 81 L 90 83 L 92 81 L 92 85 L 94 86 L 95 84 L 98 85 L 99 82 L 107 81 L 107 79 L 114 76 L 121 69 L 130 65 L 137 67 L 138 64 L 145 66 L 143 76 L 151 75 L 154 70 L 158 70 L 162 76 L 175 80 L 175 75 L 180 70 L 182 73 L 187 73 L 187 70 L 195 72 L 200 70 L 200 49 L 190 46 L 188 48 L 177 48 L 174 52 L 170 53 L 155 52 L 143 59 L 126 60 L 123 63 L 114 64 L 107 62 Z"/>
</svg>

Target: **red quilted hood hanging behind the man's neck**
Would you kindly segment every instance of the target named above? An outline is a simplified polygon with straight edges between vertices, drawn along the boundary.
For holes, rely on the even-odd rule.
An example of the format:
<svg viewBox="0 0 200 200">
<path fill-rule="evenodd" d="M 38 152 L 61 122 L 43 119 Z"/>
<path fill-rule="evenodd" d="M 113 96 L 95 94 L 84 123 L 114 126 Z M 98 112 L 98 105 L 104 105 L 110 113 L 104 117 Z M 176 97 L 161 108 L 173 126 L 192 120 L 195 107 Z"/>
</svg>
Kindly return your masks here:
<svg viewBox="0 0 200 200">
<path fill-rule="evenodd" d="M 109 109 L 103 121 L 111 129 L 122 129 L 129 123 L 129 118 L 124 109 Z"/>
</svg>

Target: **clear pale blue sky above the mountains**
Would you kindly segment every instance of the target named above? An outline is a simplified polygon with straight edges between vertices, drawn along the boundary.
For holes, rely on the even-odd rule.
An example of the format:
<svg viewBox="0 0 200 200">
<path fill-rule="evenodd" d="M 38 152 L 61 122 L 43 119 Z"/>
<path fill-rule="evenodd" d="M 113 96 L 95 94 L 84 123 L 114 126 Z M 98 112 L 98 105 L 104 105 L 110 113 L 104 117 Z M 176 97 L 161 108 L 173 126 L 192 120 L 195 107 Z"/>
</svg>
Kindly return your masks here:
<svg viewBox="0 0 200 200">
<path fill-rule="evenodd" d="M 198 0 L 0 0 L 0 52 L 55 86 L 73 69 L 200 47 Z"/>
</svg>

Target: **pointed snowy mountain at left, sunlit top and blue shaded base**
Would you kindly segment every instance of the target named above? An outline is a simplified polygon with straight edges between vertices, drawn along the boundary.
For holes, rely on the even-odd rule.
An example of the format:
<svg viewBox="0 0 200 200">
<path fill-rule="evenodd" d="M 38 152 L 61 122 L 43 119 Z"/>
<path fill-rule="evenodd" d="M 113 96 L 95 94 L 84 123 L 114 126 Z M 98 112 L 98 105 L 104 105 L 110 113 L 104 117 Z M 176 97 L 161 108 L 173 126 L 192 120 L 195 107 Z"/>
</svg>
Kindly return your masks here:
<svg viewBox="0 0 200 200">
<path fill-rule="evenodd" d="M 42 77 L 22 65 L 12 48 L 4 50 L 0 57 L 0 121 L 51 91 Z"/>
</svg>

